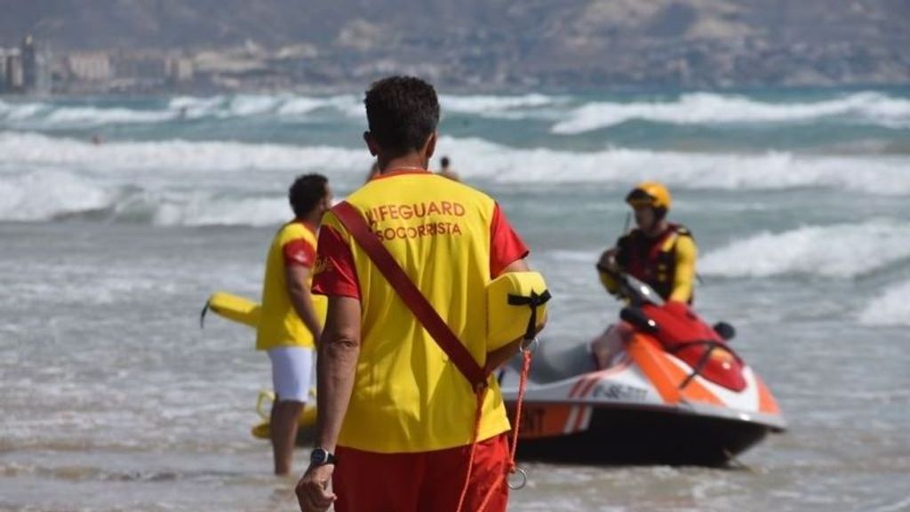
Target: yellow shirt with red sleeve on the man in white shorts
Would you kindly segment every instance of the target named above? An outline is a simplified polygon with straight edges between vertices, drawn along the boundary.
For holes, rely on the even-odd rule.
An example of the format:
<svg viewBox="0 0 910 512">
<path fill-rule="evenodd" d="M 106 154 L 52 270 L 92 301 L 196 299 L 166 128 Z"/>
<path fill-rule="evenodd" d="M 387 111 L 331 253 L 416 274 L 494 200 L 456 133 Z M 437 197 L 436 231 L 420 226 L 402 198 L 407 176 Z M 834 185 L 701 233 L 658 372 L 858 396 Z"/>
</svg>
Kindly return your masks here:
<svg viewBox="0 0 910 512">
<path fill-rule="evenodd" d="M 300 320 L 288 294 L 285 269 L 290 265 L 312 267 L 316 260 L 316 233 L 305 222 L 293 220 L 278 230 L 268 248 L 266 275 L 262 284 L 262 312 L 256 331 L 256 349 L 279 346 L 315 346 L 313 334 Z M 312 282 L 310 276 L 307 286 Z M 319 298 L 325 301 L 324 298 Z M 316 306 L 314 300 L 314 306 Z M 324 306 L 316 308 L 325 311 Z"/>
</svg>

